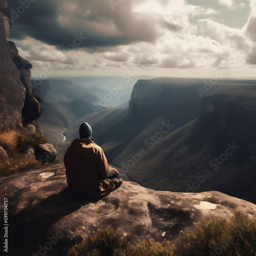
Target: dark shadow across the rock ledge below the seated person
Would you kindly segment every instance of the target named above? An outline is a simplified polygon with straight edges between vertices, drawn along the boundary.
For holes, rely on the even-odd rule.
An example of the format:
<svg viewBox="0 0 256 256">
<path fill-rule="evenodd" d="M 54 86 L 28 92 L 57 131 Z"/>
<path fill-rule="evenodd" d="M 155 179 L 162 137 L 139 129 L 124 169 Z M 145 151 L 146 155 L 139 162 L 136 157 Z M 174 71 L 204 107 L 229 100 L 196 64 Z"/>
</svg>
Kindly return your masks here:
<svg viewBox="0 0 256 256">
<path fill-rule="evenodd" d="M 67 187 L 34 206 L 31 202 L 30 207 L 8 219 L 9 255 L 42 255 L 44 250 L 41 249 L 40 251 L 40 248 L 44 247 L 44 244 L 48 241 L 48 232 L 54 223 L 72 214 L 81 206 L 96 203 L 103 197 L 78 198 L 73 196 L 69 187 Z M 76 244 L 76 242 L 80 241 L 71 241 L 69 247 Z M 48 246 L 50 246 L 50 243 L 48 243 Z M 38 251 L 40 253 L 36 254 Z"/>
</svg>

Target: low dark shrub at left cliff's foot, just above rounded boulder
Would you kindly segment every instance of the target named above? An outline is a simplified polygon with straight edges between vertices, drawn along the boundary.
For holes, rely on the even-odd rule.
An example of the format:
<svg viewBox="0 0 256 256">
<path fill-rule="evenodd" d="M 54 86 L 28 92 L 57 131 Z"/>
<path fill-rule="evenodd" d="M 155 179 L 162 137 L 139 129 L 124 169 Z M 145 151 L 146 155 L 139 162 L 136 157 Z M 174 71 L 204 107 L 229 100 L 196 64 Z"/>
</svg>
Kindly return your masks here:
<svg viewBox="0 0 256 256">
<path fill-rule="evenodd" d="M 39 133 L 31 133 L 29 135 L 19 134 L 17 137 L 17 148 L 20 152 L 24 152 L 28 147 L 38 146 L 39 144 L 47 143 L 47 138 Z"/>
</svg>

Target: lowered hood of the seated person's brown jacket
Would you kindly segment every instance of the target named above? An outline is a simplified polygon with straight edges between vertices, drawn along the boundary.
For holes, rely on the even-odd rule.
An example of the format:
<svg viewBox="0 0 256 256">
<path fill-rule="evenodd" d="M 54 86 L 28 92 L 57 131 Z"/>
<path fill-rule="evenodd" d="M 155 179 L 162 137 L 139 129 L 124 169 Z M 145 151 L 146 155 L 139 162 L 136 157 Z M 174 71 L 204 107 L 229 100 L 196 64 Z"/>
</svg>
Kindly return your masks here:
<svg viewBox="0 0 256 256">
<path fill-rule="evenodd" d="M 89 139 L 75 139 L 70 146 L 78 157 L 83 158 L 89 155 L 96 145 L 96 143 Z"/>
</svg>

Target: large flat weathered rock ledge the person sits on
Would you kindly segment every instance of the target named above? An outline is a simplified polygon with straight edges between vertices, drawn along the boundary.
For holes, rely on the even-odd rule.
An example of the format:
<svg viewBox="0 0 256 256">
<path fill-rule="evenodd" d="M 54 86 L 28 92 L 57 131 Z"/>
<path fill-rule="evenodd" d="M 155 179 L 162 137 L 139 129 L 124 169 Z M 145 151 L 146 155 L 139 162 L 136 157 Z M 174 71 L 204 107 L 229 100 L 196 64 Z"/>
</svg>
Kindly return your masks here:
<svg viewBox="0 0 256 256">
<path fill-rule="evenodd" d="M 155 191 L 125 181 L 102 198 L 76 198 L 69 193 L 63 164 L 2 178 L 0 195 L 1 202 L 8 199 L 9 255 L 65 255 L 101 225 L 163 241 L 182 236 L 201 217 L 228 219 L 234 209 L 250 217 L 256 212 L 255 204 L 218 191 Z M 0 215 L 3 219 L 3 207 Z"/>
</svg>

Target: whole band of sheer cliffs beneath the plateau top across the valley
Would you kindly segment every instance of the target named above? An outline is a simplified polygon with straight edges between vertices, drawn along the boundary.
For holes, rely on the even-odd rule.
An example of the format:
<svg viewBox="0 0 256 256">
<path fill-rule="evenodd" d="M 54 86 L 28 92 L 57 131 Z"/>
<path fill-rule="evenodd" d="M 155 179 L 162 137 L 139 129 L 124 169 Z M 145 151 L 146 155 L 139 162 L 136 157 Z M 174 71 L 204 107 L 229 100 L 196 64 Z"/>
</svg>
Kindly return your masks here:
<svg viewBox="0 0 256 256">
<path fill-rule="evenodd" d="M 219 138 L 255 147 L 255 81 L 219 80 L 207 91 L 206 85 L 204 79 L 139 80 L 132 92 L 130 114 L 143 118 L 164 113 L 176 128 L 198 118 L 197 129 L 210 129 Z M 204 91 L 201 97 L 198 90 Z"/>
</svg>

